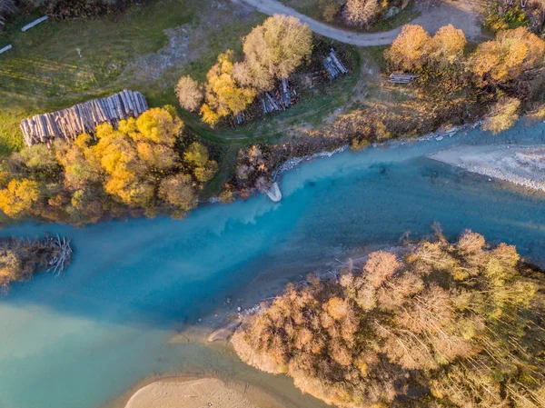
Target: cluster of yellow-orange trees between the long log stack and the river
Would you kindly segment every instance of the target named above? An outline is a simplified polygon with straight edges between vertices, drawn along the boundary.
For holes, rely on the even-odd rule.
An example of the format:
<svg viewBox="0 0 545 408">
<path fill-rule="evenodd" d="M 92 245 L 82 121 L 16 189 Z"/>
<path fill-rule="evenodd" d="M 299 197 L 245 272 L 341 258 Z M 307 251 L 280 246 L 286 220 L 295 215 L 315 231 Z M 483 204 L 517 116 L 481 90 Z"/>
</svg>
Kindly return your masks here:
<svg viewBox="0 0 545 408">
<path fill-rule="evenodd" d="M 217 171 L 208 149 L 189 140 L 183 122 L 162 108 L 121 121 L 117 129 L 101 124 L 96 140 L 81 134 L 74 143 L 55 141 L 52 149 L 35 144 L 4 166 L 9 176 L 0 188 L 0 209 L 6 215 L 72 224 L 127 211 L 183 214 Z"/>
</svg>

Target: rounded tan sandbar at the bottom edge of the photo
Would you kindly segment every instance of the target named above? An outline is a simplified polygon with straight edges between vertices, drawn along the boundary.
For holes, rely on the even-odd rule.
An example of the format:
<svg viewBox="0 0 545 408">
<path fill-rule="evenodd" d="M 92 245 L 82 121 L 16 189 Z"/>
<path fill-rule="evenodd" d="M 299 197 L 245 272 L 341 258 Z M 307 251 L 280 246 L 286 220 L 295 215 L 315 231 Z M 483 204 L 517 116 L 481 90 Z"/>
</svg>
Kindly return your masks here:
<svg viewBox="0 0 545 408">
<path fill-rule="evenodd" d="M 140 388 L 125 408 L 282 408 L 271 395 L 248 383 L 216 378 L 167 378 Z"/>
</svg>

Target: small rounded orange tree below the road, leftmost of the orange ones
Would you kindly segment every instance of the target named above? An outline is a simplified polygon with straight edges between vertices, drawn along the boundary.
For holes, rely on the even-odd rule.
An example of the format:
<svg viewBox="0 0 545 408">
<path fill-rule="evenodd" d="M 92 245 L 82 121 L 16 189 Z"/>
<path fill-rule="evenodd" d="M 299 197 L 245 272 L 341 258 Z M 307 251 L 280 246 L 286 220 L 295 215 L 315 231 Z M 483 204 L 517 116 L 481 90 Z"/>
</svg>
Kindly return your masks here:
<svg viewBox="0 0 545 408">
<path fill-rule="evenodd" d="M 414 71 L 426 64 L 426 47 L 430 35 L 420 25 L 403 25 L 401 34 L 385 53 L 394 69 Z"/>
</svg>

